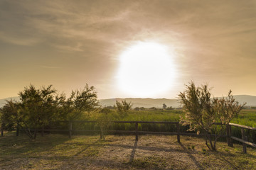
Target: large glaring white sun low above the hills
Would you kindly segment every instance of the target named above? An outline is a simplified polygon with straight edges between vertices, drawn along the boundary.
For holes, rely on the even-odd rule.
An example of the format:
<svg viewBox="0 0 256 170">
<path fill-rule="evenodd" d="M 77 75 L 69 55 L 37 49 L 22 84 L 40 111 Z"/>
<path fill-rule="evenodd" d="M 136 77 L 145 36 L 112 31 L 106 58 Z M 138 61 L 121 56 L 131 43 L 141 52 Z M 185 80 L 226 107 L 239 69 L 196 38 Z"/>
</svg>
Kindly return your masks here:
<svg viewBox="0 0 256 170">
<path fill-rule="evenodd" d="M 156 97 L 174 82 L 174 52 L 156 42 L 137 42 L 119 56 L 118 86 L 133 97 Z"/>
</svg>

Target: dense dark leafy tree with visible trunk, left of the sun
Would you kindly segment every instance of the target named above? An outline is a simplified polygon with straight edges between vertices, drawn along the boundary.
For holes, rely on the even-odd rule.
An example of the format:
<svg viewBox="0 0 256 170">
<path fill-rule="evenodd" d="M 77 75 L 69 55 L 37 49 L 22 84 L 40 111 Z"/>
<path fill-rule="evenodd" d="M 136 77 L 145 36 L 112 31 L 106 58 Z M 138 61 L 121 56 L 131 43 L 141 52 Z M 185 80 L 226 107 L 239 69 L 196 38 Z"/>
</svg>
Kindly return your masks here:
<svg viewBox="0 0 256 170">
<path fill-rule="evenodd" d="M 56 90 L 52 89 L 52 85 L 36 89 L 30 85 L 25 87 L 19 93 L 21 104 L 18 108 L 18 125 L 25 130 L 28 137 L 35 140 L 38 129 L 43 129 L 55 120 L 56 106 L 58 101 L 55 100 Z M 31 132 L 33 129 L 33 134 Z"/>
</svg>

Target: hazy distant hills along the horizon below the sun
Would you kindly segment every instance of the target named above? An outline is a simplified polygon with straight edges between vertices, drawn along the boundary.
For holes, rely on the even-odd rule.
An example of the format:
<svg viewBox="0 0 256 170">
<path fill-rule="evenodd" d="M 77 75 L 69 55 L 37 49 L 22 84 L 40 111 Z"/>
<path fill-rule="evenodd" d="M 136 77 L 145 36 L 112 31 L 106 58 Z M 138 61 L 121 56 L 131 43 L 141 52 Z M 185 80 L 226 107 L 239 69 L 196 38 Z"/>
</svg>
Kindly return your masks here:
<svg viewBox="0 0 256 170">
<path fill-rule="evenodd" d="M 16 101 L 19 101 L 18 97 L 11 97 Z M 0 108 L 4 106 L 6 100 L 10 100 L 11 98 L 3 98 L 0 99 Z M 246 106 L 256 106 L 256 96 L 249 96 L 249 95 L 235 95 L 235 100 L 239 103 L 247 103 Z M 108 99 L 101 99 L 100 105 L 101 106 L 114 106 L 116 101 L 128 101 L 132 103 L 132 108 L 136 107 L 144 107 L 144 108 L 162 108 L 163 104 L 165 103 L 167 107 L 178 108 L 181 107 L 178 99 L 167 99 L 167 98 L 108 98 Z"/>
</svg>

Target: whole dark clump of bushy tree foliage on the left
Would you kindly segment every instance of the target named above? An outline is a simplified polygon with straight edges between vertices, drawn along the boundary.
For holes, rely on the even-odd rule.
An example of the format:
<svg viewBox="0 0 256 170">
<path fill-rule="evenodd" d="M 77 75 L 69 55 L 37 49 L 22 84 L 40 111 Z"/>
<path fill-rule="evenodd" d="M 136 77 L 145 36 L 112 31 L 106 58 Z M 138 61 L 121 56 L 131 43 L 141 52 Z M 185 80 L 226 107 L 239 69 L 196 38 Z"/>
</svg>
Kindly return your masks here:
<svg viewBox="0 0 256 170">
<path fill-rule="evenodd" d="M 68 99 L 65 94 L 58 95 L 52 85 L 41 89 L 30 85 L 18 95 L 20 103 L 7 101 L 1 109 L 1 127 L 22 128 L 32 140 L 36 139 L 38 130 L 43 132 L 51 121 L 81 119 L 98 106 L 95 88 L 87 84 L 80 91 L 72 91 Z"/>
</svg>

